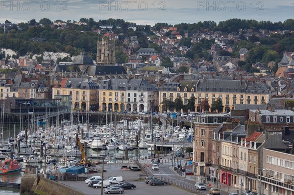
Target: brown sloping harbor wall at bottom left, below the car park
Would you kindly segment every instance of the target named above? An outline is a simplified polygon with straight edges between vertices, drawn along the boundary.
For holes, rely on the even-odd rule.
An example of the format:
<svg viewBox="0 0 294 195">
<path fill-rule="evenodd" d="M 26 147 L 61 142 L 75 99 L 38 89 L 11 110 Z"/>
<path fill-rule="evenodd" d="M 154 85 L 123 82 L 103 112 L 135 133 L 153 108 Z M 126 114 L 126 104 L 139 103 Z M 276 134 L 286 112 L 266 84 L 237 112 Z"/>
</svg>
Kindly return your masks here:
<svg viewBox="0 0 294 195">
<path fill-rule="evenodd" d="M 20 193 L 26 195 L 87 195 L 57 181 L 35 174 L 23 175 Z"/>
</svg>

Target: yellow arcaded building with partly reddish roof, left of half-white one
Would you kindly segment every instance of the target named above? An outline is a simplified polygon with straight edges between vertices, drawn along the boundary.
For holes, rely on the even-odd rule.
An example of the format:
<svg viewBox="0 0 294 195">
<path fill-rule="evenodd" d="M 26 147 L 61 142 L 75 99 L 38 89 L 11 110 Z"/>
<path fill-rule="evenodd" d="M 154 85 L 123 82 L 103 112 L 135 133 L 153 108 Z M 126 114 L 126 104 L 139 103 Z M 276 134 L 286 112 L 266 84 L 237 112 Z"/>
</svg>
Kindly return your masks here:
<svg viewBox="0 0 294 195">
<path fill-rule="evenodd" d="M 74 110 L 98 109 L 98 84 L 84 78 L 64 78 L 52 87 L 52 98 L 70 95 Z"/>
</svg>

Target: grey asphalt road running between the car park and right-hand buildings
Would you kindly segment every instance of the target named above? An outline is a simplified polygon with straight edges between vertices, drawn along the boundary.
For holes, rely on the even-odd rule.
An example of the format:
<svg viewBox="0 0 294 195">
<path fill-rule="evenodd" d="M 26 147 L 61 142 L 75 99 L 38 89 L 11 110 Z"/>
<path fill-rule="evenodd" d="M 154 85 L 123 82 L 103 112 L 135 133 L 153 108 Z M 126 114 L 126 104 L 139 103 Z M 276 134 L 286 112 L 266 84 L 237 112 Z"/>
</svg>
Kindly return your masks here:
<svg viewBox="0 0 294 195">
<path fill-rule="evenodd" d="M 205 179 L 204 177 L 200 176 L 194 176 L 194 175 L 180 175 L 176 171 L 174 171 L 173 166 L 172 166 L 172 155 L 167 155 L 164 157 L 160 157 L 161 161 L 159 163 L 159 171 L 153 171 L 152 170 L 152 162 L 151 160 L 139 160 L 140 164 L 145 164 L 146 169 L 148 172 L 153 174 L 154 176 L 159 176 L 162 179 L 167 179 L 168 181 L 171 181 L 174 183 L 174 185 L 186 188 L 186 189 L 193 189 L 195 190 L 195 184 L 196 182 L 203 182 Z M 186 163 L 189 164 L 190 160 L 185 159 Z M 184 158 L 181 159 L 178 164 L 185 164 Z M 175 162 L 176 163 L 176 162 Z M 147 164 L 149 164 L 149 167 L 147 167 Z M 185 166 L 183 166 L 183 169 Z M 209 186 L 211 184 L 211 186 Z M 232 186 L 226 186 L 226 185 L 221 185 L 219 182 L 214 183 L 213 181 L 208 182 L 205 181 L 206 185 L 206 191 L 199 192 L 195 190 L 196 195 L 201 194 L 201 195 L 209 195 L 209 190 L 211 188 L 218 188 L 221 191 L 221 195 L 229 195 L 230 192 L 235 192 L 235 193 L 241 193 L 240 189 L 234 188 Z"/>
</svg>

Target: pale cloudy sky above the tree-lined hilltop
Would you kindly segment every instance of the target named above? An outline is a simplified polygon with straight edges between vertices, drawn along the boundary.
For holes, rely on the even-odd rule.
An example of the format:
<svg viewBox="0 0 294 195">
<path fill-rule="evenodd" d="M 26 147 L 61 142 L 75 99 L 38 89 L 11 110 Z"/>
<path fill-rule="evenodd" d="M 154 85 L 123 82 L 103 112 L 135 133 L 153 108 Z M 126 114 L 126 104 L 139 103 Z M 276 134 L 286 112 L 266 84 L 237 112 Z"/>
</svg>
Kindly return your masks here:
<svg viewBox="0 0 294 195">
<path fill-rule="evenodd" d="M 294 0 L 0 0 L 0 23 L 123 19 L 140 25 L 294 19 Z"/>
</svg>

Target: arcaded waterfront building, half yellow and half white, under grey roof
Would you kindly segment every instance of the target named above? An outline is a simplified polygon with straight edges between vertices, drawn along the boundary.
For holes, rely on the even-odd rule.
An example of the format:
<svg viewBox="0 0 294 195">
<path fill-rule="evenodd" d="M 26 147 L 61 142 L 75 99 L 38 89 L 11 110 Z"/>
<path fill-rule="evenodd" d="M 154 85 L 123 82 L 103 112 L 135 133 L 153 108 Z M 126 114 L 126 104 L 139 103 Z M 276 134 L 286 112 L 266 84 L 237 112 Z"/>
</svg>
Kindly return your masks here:
<svg viewBox="0 0 294 195">
<path fill-rule="evenodd" d="M 153 112 L 158 106 L 158 89 L 143 79 L 103 80 L 99 105 L 99 110 Z"/>
</svg>

